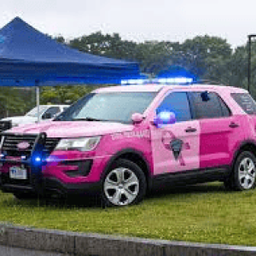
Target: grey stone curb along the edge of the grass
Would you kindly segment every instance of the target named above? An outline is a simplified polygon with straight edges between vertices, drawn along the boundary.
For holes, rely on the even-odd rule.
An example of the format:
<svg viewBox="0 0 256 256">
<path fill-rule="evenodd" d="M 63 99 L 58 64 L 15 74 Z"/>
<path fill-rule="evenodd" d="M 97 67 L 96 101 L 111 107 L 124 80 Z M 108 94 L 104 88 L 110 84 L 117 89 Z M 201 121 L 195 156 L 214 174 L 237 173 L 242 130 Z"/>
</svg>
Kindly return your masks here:
<svg viewBox="0 0 256 256">
<path fill-rule="evenodd" d="M 33 250 L 40 255 L 58 253 L 65 256 L 256 256 L 256 247 L 38 230 L 5 224 L 0 224 L 0 245 L 23 248 L 24 251 Z"/>
</svg>

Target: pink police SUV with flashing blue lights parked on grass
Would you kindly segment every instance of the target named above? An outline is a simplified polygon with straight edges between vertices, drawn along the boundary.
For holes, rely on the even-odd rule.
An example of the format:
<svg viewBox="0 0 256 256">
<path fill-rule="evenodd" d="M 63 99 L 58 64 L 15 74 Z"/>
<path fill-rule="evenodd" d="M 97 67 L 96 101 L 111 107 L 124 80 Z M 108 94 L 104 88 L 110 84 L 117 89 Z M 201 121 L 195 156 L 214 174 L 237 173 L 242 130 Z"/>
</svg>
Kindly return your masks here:
<svg viewBox="0 0 256 256">
<path fill-rule="evenodd" d="M 164 181 L 253 189 L 255 113 L 247 90 L 228 86 L 95 90 L 53 121 L 2 133 L 1 189 L 20 199 L 97 192 L 108 206 Z"/>
</svg>

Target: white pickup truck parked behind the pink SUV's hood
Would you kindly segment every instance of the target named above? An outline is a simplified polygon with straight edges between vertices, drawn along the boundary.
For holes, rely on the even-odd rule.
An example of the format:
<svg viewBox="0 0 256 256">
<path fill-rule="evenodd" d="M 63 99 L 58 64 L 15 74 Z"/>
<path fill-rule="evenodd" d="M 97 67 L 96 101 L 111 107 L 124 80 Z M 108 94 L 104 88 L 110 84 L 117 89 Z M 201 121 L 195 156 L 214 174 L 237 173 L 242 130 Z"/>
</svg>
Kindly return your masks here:
<svg viewBox="0 0 256 256">
<path fill-rule="evenodd" d="M 39 120 L 53 119 L 57 114 L 67 109 L 69 105 L 40 105 Z M 11 121 L 12 126 L 33 124 L 38 122 L 38 107 L 32 108 L 24 116 L 14 116 L 1 119 L 1 121 Z"/>
</svg>

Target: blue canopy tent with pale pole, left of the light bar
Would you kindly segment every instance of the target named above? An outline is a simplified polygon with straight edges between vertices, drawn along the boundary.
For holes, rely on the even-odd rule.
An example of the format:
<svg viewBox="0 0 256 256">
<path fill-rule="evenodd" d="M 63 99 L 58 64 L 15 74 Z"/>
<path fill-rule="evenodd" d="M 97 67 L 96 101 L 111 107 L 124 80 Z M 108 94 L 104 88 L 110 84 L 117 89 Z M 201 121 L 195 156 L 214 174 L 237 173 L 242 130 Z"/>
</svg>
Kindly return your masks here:
<svg viewBox="0 0 256 256">
<path fill-rule="evenodd" d="M 119 84 L 139 77 L 136 62 L 82 53 L 59 44 L 19 17 L 0 30 L 0 86 Z"/>
</svg>

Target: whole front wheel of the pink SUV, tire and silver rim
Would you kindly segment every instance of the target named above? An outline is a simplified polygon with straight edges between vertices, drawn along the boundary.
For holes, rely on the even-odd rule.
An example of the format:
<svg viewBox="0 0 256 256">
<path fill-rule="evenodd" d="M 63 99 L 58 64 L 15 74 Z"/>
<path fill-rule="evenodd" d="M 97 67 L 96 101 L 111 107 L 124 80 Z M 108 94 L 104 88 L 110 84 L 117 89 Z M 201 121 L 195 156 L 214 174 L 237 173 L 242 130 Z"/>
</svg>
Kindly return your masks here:
<svg viewBox="0 0 256 256">
<path fill-rule="evenodd" d="M 142 169 L 130 160 L 116 160 L 102 180 L 106 207 L 125 207 L 143 201 L 147 181 Z"/>
</svg>

